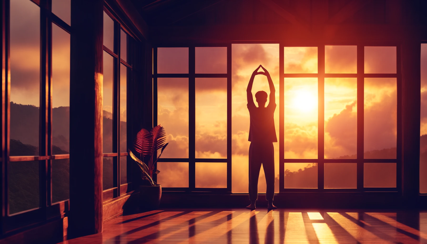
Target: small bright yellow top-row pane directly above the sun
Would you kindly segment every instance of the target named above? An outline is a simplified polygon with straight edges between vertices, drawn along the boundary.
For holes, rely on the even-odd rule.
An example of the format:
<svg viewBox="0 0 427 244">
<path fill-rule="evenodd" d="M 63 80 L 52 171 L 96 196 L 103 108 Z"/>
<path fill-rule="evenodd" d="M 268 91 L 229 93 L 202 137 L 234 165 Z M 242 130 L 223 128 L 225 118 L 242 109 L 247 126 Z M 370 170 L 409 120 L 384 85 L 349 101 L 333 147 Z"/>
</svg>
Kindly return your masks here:
<svg viewBox="0 0 427 244">
<path fill-rule="evenodd" d="M 284 47 L 284 73 L 317 73 L 317 47 Z"/>
</svg>

